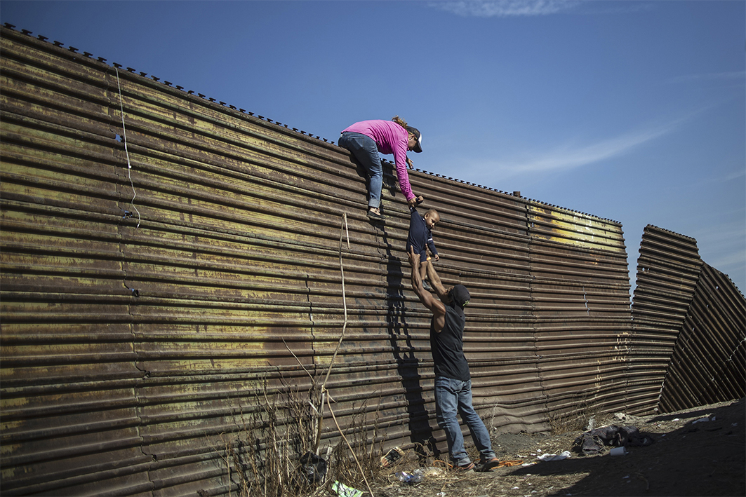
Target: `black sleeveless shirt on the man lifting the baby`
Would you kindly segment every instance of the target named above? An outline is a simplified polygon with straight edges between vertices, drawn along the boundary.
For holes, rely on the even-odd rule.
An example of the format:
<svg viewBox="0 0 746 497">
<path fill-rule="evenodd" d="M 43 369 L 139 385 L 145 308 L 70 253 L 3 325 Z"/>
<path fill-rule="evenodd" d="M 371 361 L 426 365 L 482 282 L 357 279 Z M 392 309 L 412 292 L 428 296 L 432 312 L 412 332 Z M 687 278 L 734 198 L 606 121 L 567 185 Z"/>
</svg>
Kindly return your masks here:
<svg viewBox="0 0 746 497">
<path fill-rule="evenodd" d="M 445 376 L 467 382 L 471 379 L 463 351 L 466 317 L 451 306 L 445 306 L 445 325 L 435 331 L 435 318 L 430 321 L 430 350 L 435 363 L 435 376 Z"/>
</svg>

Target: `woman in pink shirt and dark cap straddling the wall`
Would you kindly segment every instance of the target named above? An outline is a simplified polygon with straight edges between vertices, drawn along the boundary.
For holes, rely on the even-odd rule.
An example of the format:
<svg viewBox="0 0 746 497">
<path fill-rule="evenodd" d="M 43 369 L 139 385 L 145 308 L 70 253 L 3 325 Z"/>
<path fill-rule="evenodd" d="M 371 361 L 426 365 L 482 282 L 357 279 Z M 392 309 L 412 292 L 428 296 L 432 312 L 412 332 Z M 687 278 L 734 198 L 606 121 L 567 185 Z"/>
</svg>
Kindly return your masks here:
<svg viewBox="0 0 746 497">
<path fill-rule="evenodd" d="M 399 188 L 407 203 L 416 206 L 424 198 L 412 192 L 407 165 L 412 162 L 407 158 L 407 151 L 422 151 L 422 136 L 416 127 L 407 126 L 407 122 L 398 115 L 391 121 L 376 119 L 360 121 L 342 131 L 339 146 L 351 151 L 368 171 L 368 217 L 372 221 L 383 220 L 380 213 L 380 190 L 383 187 L 383 167 L 378 153 L 393 153 L 396 165 L 396 177 Z"/>
</svg>

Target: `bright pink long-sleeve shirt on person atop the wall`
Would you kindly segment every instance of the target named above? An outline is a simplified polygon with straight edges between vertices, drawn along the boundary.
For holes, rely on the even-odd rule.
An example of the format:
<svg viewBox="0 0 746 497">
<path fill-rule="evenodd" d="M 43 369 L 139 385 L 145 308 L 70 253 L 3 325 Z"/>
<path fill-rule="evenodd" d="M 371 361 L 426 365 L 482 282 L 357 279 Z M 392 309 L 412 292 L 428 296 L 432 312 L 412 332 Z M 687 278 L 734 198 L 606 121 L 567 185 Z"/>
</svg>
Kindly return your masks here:
<svg viewBox="0 0 746 497">
<path fill-rule="evenodd" d="M 407 151 L 409 151 L 409 133 L 394 121 L 374 119 L 372 121 L 356 122 L 345 130 L 360 133 L 373 139 L 380 153 L 393 153 L 396 165 L 396 177 L 399 189 L 407 200 L 412 200 L 415 194 L 410 186 L 410 175 L 407 174 Z"/>
</svg>

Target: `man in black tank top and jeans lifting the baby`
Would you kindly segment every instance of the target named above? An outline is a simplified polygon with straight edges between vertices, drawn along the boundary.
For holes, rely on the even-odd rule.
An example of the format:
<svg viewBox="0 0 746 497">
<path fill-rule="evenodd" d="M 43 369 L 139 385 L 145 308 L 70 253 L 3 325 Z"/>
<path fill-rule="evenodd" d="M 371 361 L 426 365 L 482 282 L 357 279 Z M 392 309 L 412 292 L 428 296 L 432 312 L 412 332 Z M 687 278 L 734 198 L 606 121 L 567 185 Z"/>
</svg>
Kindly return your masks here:
<svg viewBox="0 0 746 497">
<path fill-rule="evenodd" d="M 498 466 L 492 451 L 489 431 L 471 405 L 471 375 L 463 352 L 463 332 L 466 317 L 463 308 L 469 294 L 464 285 L 444 288 L 433 265 L 427 265 L 427 278 L 440 300 L 422 287 L 419 273 L 419 255 L 410 248 L 412 287 L 420 302 L 433 313 L 430 322 L 430 349 L 435 366 L 435 405 L 438 425 L 445 431 L 448 452 L 454 468 L 471 471 L 489 471 Z M 464 449 L 464 439 L 457 414 L 471 432 L 471 440 L 480 453 L 480 463 L 471 462 Z"/>
</svg>

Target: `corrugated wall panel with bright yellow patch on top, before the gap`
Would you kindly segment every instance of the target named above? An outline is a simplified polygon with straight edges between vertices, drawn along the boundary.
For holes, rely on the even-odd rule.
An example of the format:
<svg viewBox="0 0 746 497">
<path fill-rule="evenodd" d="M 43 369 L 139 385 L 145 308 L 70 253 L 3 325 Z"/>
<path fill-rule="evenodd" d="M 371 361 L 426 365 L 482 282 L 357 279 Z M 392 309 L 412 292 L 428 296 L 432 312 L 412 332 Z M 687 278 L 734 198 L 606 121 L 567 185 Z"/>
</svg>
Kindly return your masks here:
<svg viewBox="0 0 746 497">
<path fill-rule="evenodd" d="M 553 417 L 624 410 L 630 331 L 621 227 L 577 212 L 531 206 L 530 265 L 536 354 Z"/>
</svg>

